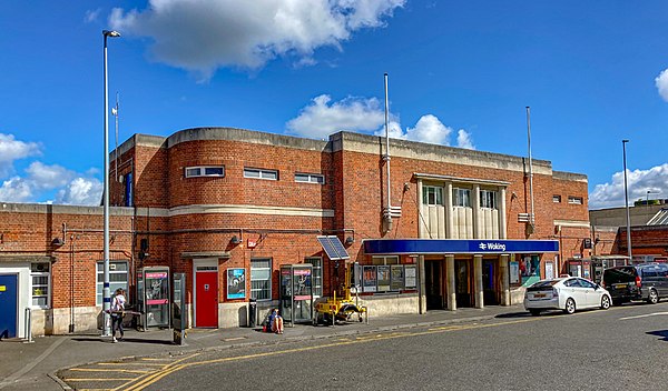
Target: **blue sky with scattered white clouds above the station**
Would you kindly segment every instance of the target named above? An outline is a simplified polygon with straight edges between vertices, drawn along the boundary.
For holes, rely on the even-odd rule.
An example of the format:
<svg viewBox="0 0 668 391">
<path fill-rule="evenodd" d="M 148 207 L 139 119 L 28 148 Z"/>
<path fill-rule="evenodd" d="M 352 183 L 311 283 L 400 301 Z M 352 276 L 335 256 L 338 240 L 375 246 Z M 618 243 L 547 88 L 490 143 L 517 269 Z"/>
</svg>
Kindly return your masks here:
<svg viewBox="0 0 668 391">
<path fill-rule="evenodd" d="M 0 26 L 0 201 L 99 203 L 109 28 L 119 142 L 379 133 L 387 72 L 394 137 L 525 156 L 530 106 L 590 208 L 623 205 L 622 139 L 630 198 L 668 198 L 666 1 L 3 1 Z"/>
</svg>

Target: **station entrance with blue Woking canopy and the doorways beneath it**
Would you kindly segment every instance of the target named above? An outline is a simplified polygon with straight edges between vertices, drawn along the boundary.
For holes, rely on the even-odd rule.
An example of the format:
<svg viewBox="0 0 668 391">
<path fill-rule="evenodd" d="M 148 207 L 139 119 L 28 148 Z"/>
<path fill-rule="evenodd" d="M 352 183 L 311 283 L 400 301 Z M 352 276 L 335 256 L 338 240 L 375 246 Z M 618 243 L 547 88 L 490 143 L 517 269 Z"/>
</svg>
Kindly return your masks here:
<svg viewBox="0 0 668 391">
<path fill-rule="evenodd" d="M 543 254 L 559 252 L 556 240 L 379 239 L 363 247 L 372 260 L 418 259 L 426 311 L 510 305 L 511 288 L 540 279 Z"/>
</svg>

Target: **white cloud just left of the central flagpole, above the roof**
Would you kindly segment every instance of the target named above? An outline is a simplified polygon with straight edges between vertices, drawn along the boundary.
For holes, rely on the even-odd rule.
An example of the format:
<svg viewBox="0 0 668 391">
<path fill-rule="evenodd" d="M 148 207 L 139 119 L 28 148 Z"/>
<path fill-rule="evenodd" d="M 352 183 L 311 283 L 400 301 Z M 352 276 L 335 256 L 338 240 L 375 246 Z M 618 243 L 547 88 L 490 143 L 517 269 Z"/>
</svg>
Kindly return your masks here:
<svg viewBox="0 0 668 391">
<path fill-rule="evenodd" d="M 286 124 L 289 133 L 312 139 L 326 139 L 341 130 L 369 132 L 385 122 L 384 109 L 377 99 L 348 97 L 331 103 L 332 98 L 322 94 Z"/>
</svg>

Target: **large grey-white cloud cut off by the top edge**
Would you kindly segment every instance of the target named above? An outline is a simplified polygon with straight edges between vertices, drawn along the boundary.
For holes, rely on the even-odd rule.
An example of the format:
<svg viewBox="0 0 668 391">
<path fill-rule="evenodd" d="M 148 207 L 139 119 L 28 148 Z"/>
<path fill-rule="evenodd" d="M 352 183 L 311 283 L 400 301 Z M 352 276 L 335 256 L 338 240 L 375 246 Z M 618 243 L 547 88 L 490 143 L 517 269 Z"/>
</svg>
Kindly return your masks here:
<svg viewBox="0 0 668 391">
<path fill-rule="evenodd" d="M 109 24 L 149 37 L 156 60 L 208 79 L 222 67 L 262 68 L 281 56 L 307 59 L 363 28 L 383 27 L 405 0 L 150 0 L 116 8 Z M 304 61 L 302 61 L 304 63 Z"/>
</svg>

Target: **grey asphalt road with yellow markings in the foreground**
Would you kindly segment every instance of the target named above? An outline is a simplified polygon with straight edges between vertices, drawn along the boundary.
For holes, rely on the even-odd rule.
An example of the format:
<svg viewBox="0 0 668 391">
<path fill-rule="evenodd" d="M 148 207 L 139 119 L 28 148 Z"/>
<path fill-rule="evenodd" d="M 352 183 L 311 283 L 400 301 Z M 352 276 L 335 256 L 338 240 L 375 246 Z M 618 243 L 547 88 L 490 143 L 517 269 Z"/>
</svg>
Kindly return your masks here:
<svg viewBox="0 0 668 391">
<path fill-rule="evenodd" d="M 72 369 L 124 390 L 645 390 L 668 384 L 668 303 L 342 339 L 203 351 Z M 106 381 L 87 375 L 100 375 Z"/>
</svg>

